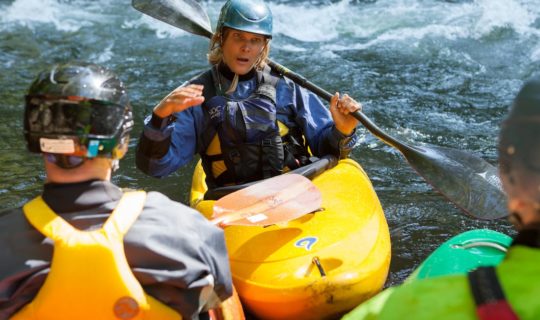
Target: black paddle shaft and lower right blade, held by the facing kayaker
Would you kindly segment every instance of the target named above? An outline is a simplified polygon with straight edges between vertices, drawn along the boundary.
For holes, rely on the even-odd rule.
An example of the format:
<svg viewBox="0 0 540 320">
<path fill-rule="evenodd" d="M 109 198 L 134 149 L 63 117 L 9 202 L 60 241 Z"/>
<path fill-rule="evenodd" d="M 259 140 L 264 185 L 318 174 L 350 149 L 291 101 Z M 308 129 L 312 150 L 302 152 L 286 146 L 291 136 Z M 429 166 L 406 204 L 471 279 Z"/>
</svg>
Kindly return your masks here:
<svg viewBox="0 0 540 320">
<path fill-rule="evenodd" d="M 332 98 L 331 93 L 303 76 L 270 59 L 267 63 L 322 99 L 330 101 Z M 385 133 L 362 112 L 352 115 L 372 134 L 398 149 L 420 176 L 465 212 L 488 220 L 507 216 L 506 196 L 497 169 L 485 160 L 451 148 L 407 145 Z"/>
</svg>

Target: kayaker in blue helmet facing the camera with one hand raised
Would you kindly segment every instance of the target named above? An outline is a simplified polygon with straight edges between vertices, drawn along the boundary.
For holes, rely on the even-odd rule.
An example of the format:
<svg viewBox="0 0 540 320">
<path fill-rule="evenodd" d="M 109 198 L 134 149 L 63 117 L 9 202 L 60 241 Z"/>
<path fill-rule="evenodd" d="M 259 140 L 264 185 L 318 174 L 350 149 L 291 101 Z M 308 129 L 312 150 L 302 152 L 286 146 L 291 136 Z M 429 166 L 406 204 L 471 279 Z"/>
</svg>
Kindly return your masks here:
<svg viewBox="0 0 540 320">
<path fill-rule="evenodd" d="M 313 93 L 270 71 L 272 13 L 261 1 L 229 0 L 211 39 L 211 69 L 167 95 L 145 120 L 137 166 L 163 177 L 200 154 L 210 188 L 268 178 L 345 158 L 361 105 L 336 93 L 330 111 Z M 311 159 L 312 160 L 312 159 Z"/>
</svg>

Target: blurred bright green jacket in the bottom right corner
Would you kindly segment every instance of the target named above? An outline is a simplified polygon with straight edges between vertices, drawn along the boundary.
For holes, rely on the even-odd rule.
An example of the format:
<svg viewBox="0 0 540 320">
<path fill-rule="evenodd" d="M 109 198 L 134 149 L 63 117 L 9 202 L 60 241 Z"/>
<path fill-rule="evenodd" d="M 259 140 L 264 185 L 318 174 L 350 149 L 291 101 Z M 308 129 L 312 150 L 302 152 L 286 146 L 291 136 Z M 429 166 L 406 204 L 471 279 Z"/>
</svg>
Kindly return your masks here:
<svg viewBox="0 0 540 320">
<path fill-rule="evenodd" d="M 514 240 L 497 276 L 520 320 L 540 319 L 540 249 Z M 358 319 L 478 319 L 467 275 L 415 280 L 389 288 L 343 317 Z"/>
</svg>

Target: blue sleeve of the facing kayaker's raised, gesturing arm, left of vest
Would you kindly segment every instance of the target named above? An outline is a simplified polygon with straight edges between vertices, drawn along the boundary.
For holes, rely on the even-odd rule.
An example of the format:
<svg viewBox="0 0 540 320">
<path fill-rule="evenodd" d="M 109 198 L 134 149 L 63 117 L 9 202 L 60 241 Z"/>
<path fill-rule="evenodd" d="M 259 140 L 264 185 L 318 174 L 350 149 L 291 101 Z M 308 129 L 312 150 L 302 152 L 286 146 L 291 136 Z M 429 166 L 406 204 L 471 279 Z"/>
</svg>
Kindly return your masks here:
<svg viewBox="0 0 540 320">
<path fill-rule="evenodd" d="M 206 126 L 201 106 L 174 114 L 174 121 L 156 128 L 151 116 L 137 145 L 137 167 L 153 177 L 167 176 L 189 163 L 200 150 Z"/>
</svg>

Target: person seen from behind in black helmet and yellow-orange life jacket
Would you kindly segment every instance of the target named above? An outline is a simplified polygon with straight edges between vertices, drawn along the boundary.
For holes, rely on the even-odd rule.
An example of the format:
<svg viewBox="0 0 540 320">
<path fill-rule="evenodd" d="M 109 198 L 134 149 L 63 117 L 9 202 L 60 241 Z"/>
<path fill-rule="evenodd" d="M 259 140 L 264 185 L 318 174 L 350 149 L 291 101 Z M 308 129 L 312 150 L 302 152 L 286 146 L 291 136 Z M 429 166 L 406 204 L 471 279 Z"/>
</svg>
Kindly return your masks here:
<svg viewBox="0 0 540 320">
<path fill-rule="evenodd" d="M 56 65 L 33 82 L 24 135 L 47 178 L 41 196 L 0 213 L 0 319 L 198 319 L 232 294 L 221 229 L 111 183 L 132 127 L 105 68 Z"/>
</svg>

